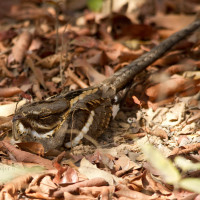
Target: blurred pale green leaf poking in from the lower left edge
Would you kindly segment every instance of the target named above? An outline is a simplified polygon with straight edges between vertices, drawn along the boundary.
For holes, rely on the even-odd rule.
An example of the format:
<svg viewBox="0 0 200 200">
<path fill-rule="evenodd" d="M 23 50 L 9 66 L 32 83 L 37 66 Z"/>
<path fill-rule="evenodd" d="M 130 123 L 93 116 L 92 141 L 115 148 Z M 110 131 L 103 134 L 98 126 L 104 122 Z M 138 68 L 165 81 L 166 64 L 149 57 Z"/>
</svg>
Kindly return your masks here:
<svg viewBox="0 0 200 200">
<path fill-rule="evenodd" d="M 10 182 L 18 176 L 41 173 L 44 171 L 43 167 L 34 166 L 34 167 L 23 167 L 21 165 L 5 165 L 0 164 L 0 184 Z"/>
</svg>

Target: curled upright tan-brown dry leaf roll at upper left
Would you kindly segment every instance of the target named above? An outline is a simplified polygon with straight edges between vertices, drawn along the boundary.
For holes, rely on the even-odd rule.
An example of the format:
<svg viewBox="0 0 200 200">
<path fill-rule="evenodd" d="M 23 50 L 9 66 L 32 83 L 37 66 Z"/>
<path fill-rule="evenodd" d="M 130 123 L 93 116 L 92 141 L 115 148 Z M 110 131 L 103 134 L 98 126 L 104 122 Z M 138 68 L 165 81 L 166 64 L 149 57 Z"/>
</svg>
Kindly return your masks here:
<svg viewBox="0 0 200 200">
<path fill-rule="evenodd" d="M 12 54 L 14 60 L 21 63 L 26 55 L 26 52 L 31 44 L 32 35 L 28 31 L 24 31 L 19 36 L 14 47 L 12 48 Z"/>
</svg>

